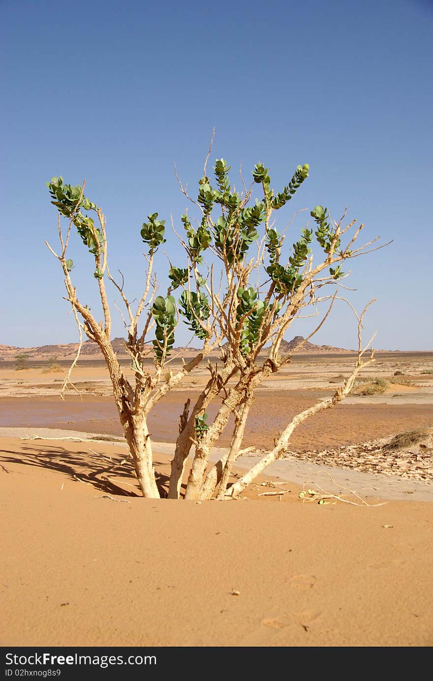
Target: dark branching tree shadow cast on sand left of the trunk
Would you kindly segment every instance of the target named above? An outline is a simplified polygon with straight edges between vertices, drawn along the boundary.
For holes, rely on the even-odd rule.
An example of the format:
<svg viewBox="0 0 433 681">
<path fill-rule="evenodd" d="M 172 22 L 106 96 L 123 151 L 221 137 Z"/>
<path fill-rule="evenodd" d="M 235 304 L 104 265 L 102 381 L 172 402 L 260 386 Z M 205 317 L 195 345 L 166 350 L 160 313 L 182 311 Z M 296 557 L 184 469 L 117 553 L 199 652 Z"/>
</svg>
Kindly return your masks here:
<svg viewBox="0 0 433 681">
<path fill-rule="evenodd" d="M 38 466 L 42 469 L 59 471 L 78 484 L 86 483 L 106 494 L 117 496 L 143 496 L 134 475 L 132 460 L 125 454 L 98 454 L 89 450 L 72 452 L 61 445 L 23 445 L 20 452 L 3 449 L 0 462 L 3 470 L 7 464 Z M 161 465 L 162 462 L 155 462 Z M 162 498 L 167 496 L 168 476 L 155 473 Z M 130 489 L 124 489 L 126 486 Z"/>
</svg>

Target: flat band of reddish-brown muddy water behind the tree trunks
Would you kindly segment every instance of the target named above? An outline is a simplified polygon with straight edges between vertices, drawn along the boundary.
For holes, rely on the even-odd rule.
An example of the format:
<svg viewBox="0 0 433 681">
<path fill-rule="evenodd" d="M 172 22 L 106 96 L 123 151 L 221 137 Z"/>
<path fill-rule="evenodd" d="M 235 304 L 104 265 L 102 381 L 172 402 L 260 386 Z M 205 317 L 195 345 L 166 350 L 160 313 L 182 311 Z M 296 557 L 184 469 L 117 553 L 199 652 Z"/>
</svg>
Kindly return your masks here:
<svg viewBox="0 0 433 681">
<path fill-rule="evenodd" d="M 245 431 L 244 446 L 269 448 L 273 438 L 291 417 L 307 409 L 326 394 L 320 390 L 268 390 L 258 392 Z M 170 393 L 158 403 L 149 418 L 153 440 L 173 442 L 179 414 L 190 391 Z M 209 422 L 217 409 L 208 409 Z M 293 449 L 321 449 L 385 437 L 418 426 L 429 425 L 431 405 L 338 405 L 316 414 L 299 426 L 290 440 Z M 65 428 L 122 436 L 113 398 L 98 396 L 1 398 L 0 426 Z M 230 422 L 219 445 L 230 440 Z"/>
</svg>

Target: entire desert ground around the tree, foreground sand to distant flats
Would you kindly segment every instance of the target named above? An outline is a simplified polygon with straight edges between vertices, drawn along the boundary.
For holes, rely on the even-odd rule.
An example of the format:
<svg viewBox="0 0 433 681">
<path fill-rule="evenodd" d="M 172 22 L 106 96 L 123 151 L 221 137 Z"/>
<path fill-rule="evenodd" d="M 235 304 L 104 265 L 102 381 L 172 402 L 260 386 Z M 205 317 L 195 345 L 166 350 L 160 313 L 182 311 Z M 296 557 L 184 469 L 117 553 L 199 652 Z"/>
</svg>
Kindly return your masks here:
<svg viewBox="0 0 433 681">
<path fill-rule="evenodd" d="M 258 392 L 247 443 L 269 447 L 350 360 L 295 359 Z M 369 373 L 401 370 L 401 384 L 311 419 L 245 498 L 195 503 L 138 496 L 102 364 L 81 362 L 82 395 L 64 402 L 63 373 L 1 364 L 0 644 L 431 646 L 432 450 L 380 459 L 377 442 L 430 432 L 432 369 L 433 353 L 378 355 Z M 205 379 L 154 416 L 163 486 L 185 395 Z M 302 501 L 303 488 L 345 501 Z"/>
</svg>

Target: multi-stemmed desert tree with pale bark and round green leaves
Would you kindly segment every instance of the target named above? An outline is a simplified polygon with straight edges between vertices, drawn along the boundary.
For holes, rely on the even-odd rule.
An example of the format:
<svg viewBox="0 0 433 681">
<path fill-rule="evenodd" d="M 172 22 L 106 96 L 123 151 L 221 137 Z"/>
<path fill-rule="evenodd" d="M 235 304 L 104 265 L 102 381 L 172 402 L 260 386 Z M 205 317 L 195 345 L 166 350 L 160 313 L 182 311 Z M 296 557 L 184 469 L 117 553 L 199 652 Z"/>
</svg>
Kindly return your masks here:
<svg viewBox="0 0 433 681">
<path fill-rule="evenodd" d="M 288 184 L 277 192 L 271 188 L 269 169 L 257 163 L 251 185 L 247 187 L 241 177 L 243 189 L 239 192 L 230 183 L 230 166 L 224 159 L 215 161 L 214 180 L 207 176 L 210 153 L 209 149 L 196 197 L 188 195 L 176 173 L 181 191 L 194 206 L 192 211 L 195 215 L 193 217 L 186 210 L 179 223 L 172 217 L 173 238 L 181 244 L 183 262 L 168 262 L 170 285 L 165 296 L 157 295 L 158 283 L 154 273 L 155 256 L 166 241 L 165 221 L 159 219 L 158 212 L 153 212 L 140 229 L 147 249 L 147 253 L 143 253 L 147 267 L 143 274 L 143 294 L 135 306 L 125 294 L 123 275 L 121 281 L 116 281 L 110 272 L 106 217 L 102 209 L 85 196 L 85 182 L 74 186 L 64 183 L 61 177 L 55 177 L 47 183 L 51 202 L 58 210 L 60 249 L 56 253 L 48 243 L 47 246 L 61 264 L 66 300 L 70 302 L 78 323 L 80 344 L 84 332 L 98 343 L 106 361 L 120 422 L 145 497 L 158 498 L 162 494 L 153 467 L 151 436 L 147 426 L 149 413 L 199 365 L 207 363 L 209 380 L 194 404 L 192 398 L 185 402 L 179 419 L 179 435 L 168 488 L 170 498 L 181 496 L 192 449 L 194 456 L 185 498 L 238 496 L 270 462 L 284 454 L 290 434 L 299 424 L 340 402 L 350 392 L 361 368 L 374 361 L 372 354 L 364 359 L 362 314 L 358 317 L 357 361 L 344 385 L 338 387 L 331 398 L 297 414 L 275 437 L 273 449 L 235 484 L 228 486 L 233 464 L 243 452 L 248 451 L 242 448 L 242 441 L 254 394 L 265 379 L 290 362 L 290 354 L 284 355 L 280 351 L 290 324 L 299 315 L 317 315 L 318 306 L 327 304 L 317 331 L 329 315 L 335 298 L 343 297 L 338 296 L 342 287 L 340 280 L 347 276 L 342 272 L 342 264 L 372 250 L 370 246 L 376 240 L 357 247 L 355 242 L 363 225 L 355 227 L 355 221 L 344 224 L 346 210 L 338 222 L 333 221 L 327 208 L 318 205 L 310 211 L 312 226 L 307 223 L 297 240 L 286 249 L 285 238 L 291 223 L 278 232 L 275 229 L 275 213 L 290 202 L 308 178 L 308 164 L 298 165 Z M 258 197 L 253 196 L 255 187 L 259 191 Z M 62 229 L 61 217 L 67 221 L 65 229 Z M 89 306 L 78 297 L 72 283 L 74 262 L 68 257 L 68 247 L 73 229 L 91 255 L 102 321 L 97 321 Z M 317 264 L 313 259 L 313 242 L 321 254 Z M 125 376 L 110 340 L 107 281 L 115 287 L 123 301 L 125 314 L 122 317 L 128 331 L 125 348 L 134 371 L 132 382 Z M 182 360 L 181 368 L 173 371 L 170 361 L 181 318 L 192 332 L 196 344 L 200 343 L 200 348 L 190 361 Z M 371 340 L 368 345 L 370 343 Z M 149 356 L 153 358 L 153 366 L 150 367 L 145 361 Z M 71 370 L 63 390 L 70 381 Z M 217 410 L 210 423 L 207 409 L 211 404 L 216 404 Z M 228 426 L 230 417 L 233 422 L 230 445 L 224 456 L 209 466 L 212 448 Z"/>
</svg>

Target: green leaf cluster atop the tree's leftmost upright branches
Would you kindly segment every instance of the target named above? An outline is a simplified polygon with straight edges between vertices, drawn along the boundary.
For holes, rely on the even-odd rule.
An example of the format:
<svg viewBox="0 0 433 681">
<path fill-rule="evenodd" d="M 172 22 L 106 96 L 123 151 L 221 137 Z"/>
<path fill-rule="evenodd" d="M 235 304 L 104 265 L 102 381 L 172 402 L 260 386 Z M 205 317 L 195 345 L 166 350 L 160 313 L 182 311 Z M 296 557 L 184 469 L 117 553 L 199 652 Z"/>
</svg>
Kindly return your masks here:
<svg viewBox="0 0 433 681">
<path fill-rule="evenodd" d="M 98 256 L 98 250 L 102 253 L 102 246 L 104 238 L 99 227 L 95 227 L 95 223 L 88 215 L 83 215 L 80 209 L 98 211 L 98 206 L 93 204 L 85 196 L 82 196 L 82 187 L 80 185 L 65 185 L 63 177 L 53 177 L 50 182 L 46 183 L 48 191 L 50 192 L 53 201 L 51 203 L 57 207 L 61 215 L 72 219 L 76 226 L 77 232 L 80 235 L 83 243 L 89 249 L 89 253 Z M 68 272 L 72 270 L 74 263 L 68 260 L 66 264 Z M 93 273 L 96 279 L 102 279 L 102 270 L 96 268 Z"/>
</svg>

